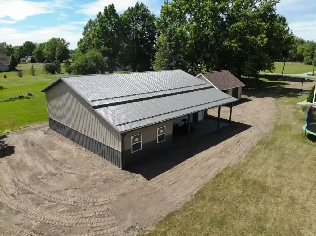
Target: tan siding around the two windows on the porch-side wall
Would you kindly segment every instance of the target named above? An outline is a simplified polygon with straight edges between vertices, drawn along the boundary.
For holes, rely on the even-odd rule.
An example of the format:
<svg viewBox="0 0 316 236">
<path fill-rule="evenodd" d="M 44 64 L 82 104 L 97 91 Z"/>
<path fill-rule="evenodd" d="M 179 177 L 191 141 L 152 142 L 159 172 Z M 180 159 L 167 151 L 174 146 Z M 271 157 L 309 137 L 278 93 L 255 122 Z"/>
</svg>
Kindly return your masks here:
<svg viewBox="0 0 316 236">
<path fill-rule="evenodd" d="M 172 134 L 172 120 L 133 130 L 124 136 L 124 149 L 128 150 L 131 148 L 131 137 L 133 135 L 142 134 L 142 144 L 157 140 L 157 129 L 162 126 L 166 126 L 166 136 Z"/>
</svg>

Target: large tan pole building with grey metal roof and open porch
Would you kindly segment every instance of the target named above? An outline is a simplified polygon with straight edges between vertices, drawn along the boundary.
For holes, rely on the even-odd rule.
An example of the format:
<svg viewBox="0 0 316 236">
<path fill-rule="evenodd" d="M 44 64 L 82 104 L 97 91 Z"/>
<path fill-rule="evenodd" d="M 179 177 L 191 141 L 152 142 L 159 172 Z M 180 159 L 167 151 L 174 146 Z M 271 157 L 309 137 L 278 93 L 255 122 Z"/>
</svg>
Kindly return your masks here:
<svg viewBox="0 0 316 236">
<path fill-rule="evenodd" d="M 181 70 L 61 77 L 42 92 L 52 130 L 122 169 L 228 125 L 221 106 L 230 120 L 237 101 Z"/>
</svg>

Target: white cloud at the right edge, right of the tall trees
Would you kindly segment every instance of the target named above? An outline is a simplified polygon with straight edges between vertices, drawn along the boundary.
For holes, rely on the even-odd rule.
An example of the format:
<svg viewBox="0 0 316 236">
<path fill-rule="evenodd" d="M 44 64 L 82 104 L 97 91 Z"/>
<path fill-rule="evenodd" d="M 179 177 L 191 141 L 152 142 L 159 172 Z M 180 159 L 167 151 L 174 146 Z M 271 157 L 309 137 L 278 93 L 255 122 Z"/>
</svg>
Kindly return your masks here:
<svg viewBox="0 0 316 236">
<path fill-rule="evenodd" d="M 289 27 L 296 36 L 316 41 L 316 20 L 289 23 Z"/>
</svg>

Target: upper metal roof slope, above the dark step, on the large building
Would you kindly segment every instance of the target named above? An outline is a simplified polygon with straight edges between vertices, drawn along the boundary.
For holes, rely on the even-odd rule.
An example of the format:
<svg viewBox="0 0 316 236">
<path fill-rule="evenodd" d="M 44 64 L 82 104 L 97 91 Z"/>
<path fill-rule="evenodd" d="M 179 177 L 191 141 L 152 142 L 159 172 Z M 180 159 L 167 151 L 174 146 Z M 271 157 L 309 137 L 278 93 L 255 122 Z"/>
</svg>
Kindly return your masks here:
<svg viewBox="0 0 316 236">
<path fill-rule="evenodd" d="M 111 100 L 129 101 L 134 95 L 143 98 L 156 92 L 169 94 L 174 89 L 191 90 L 206 84 L 181 70 L 61 77 L 61 80 L 86 101 L 91 101 L 91 105 L 92 102 L 101 105 Z"/>
</svg>

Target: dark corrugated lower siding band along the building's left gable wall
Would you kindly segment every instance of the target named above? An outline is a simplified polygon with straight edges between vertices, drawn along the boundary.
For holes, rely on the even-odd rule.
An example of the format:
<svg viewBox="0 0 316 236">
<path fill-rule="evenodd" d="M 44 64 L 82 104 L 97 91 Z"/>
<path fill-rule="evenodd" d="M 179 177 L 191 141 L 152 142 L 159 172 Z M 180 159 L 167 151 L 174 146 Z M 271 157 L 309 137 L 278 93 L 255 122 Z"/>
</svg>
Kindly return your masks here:
<svg viewBox="0 0 316 236">
<path fill-rule="evenodd" d="M 100 143 L 87 135 L 83 135 L 82 133 L 70 129 L 68 126 L 63 125 L 51 118 L 49 118 L 49 127 L 52 130 L 55 130 L 57 133 L 65 136 L 71 141 L 79 144 L 80 146 L 88 149 L 89 151 L 97 154 L 98 156 L 106 159 L 112 164 L 122 168 L 122 153 L 108 147 L 107 145 Z"/>
</svg>

